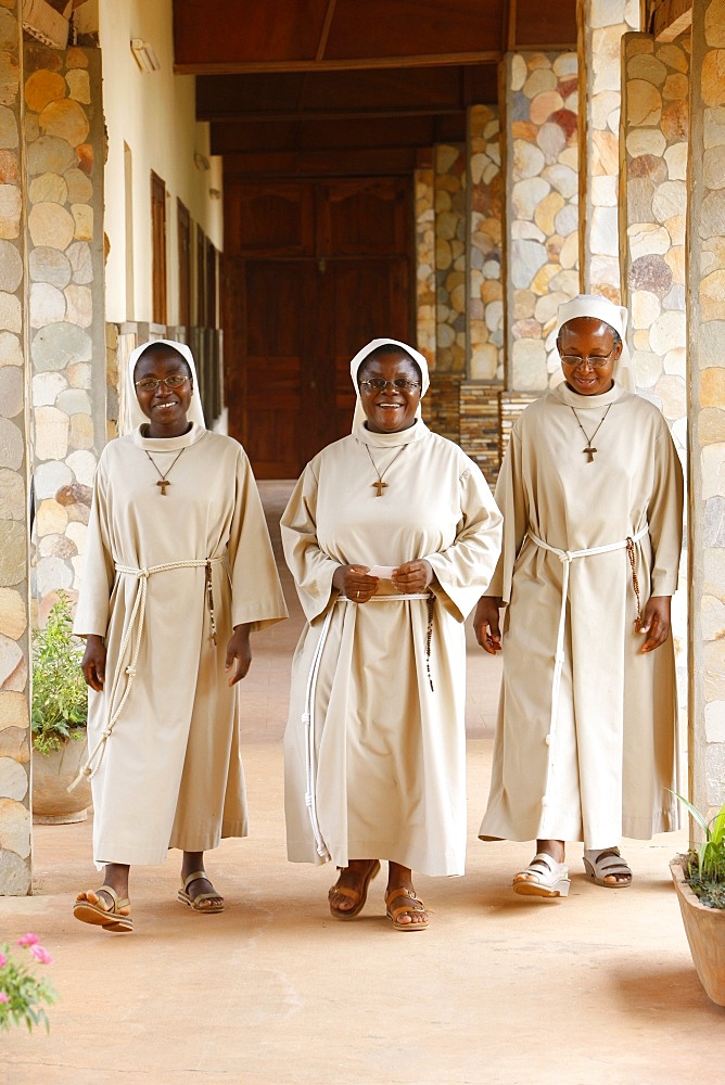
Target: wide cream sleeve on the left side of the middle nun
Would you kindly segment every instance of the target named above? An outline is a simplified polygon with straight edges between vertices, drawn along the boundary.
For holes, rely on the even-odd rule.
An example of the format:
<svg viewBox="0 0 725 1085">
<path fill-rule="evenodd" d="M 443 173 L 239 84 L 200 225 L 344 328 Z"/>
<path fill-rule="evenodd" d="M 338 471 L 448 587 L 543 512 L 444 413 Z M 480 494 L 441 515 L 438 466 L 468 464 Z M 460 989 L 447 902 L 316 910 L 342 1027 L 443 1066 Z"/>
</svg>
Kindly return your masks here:
<svg viewBox="0 0 725 1085">
<path fill-rule="evenodd" d="M 308 622 L 322 614 L 338 595 L 332 577 L 340 562 L 330 558 L 317 540 L 318 488 L 313 461 L 300 476 L 280 521 L 284 558 Z"/>
</svg>

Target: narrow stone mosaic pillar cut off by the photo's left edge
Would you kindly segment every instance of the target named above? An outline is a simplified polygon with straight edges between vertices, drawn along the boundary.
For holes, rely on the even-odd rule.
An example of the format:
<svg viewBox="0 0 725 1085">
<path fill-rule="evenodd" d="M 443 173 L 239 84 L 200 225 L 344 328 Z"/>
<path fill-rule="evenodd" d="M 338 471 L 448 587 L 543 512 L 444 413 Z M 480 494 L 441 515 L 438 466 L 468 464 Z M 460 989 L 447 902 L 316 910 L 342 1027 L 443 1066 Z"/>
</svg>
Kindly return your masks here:
<svg viewBox="0 0 725 1085">
<path fill-rule="evenodd" d="M 0 0 L 0 895 L 30 892 L 22 25 Z"/>
</svg>

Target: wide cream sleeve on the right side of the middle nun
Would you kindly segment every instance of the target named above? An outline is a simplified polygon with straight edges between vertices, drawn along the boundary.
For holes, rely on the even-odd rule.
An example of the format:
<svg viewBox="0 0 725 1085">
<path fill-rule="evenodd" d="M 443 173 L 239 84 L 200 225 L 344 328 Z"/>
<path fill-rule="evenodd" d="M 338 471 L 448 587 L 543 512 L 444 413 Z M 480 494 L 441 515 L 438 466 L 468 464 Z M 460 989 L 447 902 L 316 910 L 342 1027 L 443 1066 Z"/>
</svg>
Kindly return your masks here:
<svg viewBox="0 0 725 1085">
<path fill-rule="evenodd" d="M 433 590 L 462 622 L 492 577 L 501 546 L 501 514 L 481 470 L 471 463 L 458 480 L 461 519 L 451 546 L 425 554 L 437 584 Z"/>
</svg>

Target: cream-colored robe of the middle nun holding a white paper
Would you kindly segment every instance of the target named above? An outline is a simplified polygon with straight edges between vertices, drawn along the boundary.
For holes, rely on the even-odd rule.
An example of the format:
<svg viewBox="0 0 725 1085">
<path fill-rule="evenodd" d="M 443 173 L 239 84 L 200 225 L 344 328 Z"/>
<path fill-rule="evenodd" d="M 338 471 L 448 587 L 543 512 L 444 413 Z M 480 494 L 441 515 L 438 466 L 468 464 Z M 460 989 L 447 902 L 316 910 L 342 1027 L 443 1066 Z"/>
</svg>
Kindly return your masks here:
<svg viewBox="0 0 725 1085">
<path fill-rule="evenodd" d="M 377 497 L 376 471 L 387 483 Z M 282 518 L 282 540 L 307 617 L 292 666 L 284 736 L 288 855 L 322 861 L 305 805 L 310 663 L 333 609 L 316 695 L 315 795 L 332 861 L 391 858 L 460 875 L 466 857 L 463 620 L 488 583 L 500 514 L 479 468 L 418 420 L 394 434 L 356 427 L 305 469 Z M 336 602 L 339 564 L 435 572 L 430 688 L 423 599 Z M 381 590 L 394 593 L 392 582 Z"/>
</svg>

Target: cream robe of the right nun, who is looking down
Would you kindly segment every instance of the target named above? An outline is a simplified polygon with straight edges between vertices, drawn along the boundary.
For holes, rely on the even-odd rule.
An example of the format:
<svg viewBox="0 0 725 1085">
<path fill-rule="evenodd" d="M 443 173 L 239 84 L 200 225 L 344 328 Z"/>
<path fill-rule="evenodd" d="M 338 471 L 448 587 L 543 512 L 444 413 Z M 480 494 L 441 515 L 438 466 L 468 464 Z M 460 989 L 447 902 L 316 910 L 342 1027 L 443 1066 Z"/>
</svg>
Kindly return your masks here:
<svg viewBox="0 0 725 1085">
<path fill-rule="evenodd" d="M 593 462 L 572 412 L 595 439 Z M 611 847 L 677 828 L 677 701 L 672 637 L 643 655 L 625 549 L 571 563 L 564 663 L 554 740 L 551 682 L 561 550 L 635 544 L 643 610 L 677 586 L 683 481 L 657 408 L 618 385 L 580 396 L 560 384 L 513 427 L 496 488 L 504 548 L 485 592 L 508 603 L 504 684 L 482 838 L 584 840 Z"/>
</svg>

